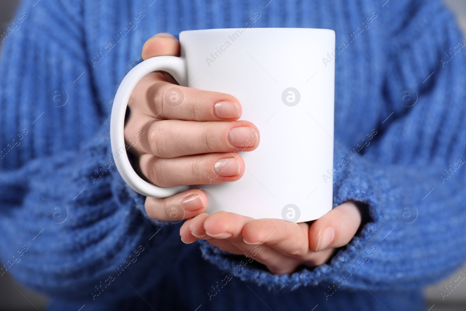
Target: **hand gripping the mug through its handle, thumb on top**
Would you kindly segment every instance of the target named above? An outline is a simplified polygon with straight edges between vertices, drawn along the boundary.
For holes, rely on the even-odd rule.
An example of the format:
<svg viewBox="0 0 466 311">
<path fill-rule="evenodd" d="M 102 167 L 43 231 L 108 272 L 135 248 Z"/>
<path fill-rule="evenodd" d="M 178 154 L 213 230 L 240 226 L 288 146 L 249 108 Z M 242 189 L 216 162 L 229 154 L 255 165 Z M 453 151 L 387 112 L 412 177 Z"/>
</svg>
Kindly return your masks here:
<svg viewBox="0 0 466 311">
<path fill-rule="evenodd" d="M 144 43 L 142 56 L 179 56 L 179 41 L 157 34 Z M 125 141 L 135 169 L 159 187 L 239 180 L 245 164 L 238 153 L 259 144 L 259 131 L 238 121 L 241 105 L 228 94 L 179 86 L 166 72 L 147 74 L 128 101 Z M 145 200 L 149 217 L 181 221 L 203 213 L 207 196 L 190 189 L 168 198 Z"/>
</svg>

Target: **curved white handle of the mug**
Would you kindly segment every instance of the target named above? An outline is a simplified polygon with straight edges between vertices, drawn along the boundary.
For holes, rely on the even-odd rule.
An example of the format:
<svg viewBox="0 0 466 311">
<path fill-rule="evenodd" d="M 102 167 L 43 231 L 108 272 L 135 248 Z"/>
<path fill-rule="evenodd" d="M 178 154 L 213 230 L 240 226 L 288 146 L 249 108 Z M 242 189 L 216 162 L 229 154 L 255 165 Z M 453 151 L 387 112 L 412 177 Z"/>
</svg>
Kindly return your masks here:
<svg viewBox="0 0 466 311">
<path fill-rule="evenodd" d="M 110 144 L 118 172 L 123 180 L 139 194 L 166 198 L 189 189 L 189 186 L 158 187 L 143 180 L 134 171 L 126 154 L 123 128 L 126 107 L 136 84 L 152 71 L 164 70 L 170 73 L 180 85 L 187 86 L 184 57 L 157 56 L 140 62 L 123 78 L 113 101 L 110 117 Z"/>
</svg>

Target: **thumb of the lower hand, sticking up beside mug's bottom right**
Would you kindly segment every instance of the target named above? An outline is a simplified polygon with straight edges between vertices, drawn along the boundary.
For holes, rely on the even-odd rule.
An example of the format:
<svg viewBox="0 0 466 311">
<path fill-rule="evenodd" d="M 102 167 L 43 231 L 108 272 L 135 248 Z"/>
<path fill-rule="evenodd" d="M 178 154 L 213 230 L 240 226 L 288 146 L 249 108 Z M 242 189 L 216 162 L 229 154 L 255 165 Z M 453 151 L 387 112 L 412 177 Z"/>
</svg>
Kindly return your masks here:
<svg viewBox="0 0 466 311">
<path fill-rule="evenodd" d="M 359 208 L 354 202 L 345 202 L 312 223 L 309 247 L 317 252 L 329 247 L 342 247 L 351 241 L 360 225 Z"/>
</svg>

